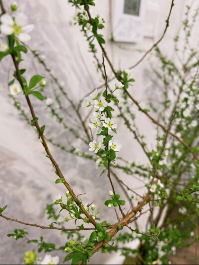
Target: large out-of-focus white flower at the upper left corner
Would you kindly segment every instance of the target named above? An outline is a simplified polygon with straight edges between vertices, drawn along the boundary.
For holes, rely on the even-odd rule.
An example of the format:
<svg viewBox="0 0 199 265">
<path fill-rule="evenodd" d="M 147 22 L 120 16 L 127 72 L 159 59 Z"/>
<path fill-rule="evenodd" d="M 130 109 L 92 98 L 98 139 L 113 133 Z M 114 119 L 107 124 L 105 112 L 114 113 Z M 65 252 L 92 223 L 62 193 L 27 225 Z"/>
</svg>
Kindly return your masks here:
<svg viewBox="0 0 199 265">
<path fill-rule="evenodd" d="M 27 16 L 23 13 L 17 13 L 14 20 L 8 14 L 1 15 L 0 30 L 5 35 L 14 34 L 20 41 L 29 41 L 30 35 L 27 34 L 33 30 L 34 25 L 27 23 Z"/>
</svg>

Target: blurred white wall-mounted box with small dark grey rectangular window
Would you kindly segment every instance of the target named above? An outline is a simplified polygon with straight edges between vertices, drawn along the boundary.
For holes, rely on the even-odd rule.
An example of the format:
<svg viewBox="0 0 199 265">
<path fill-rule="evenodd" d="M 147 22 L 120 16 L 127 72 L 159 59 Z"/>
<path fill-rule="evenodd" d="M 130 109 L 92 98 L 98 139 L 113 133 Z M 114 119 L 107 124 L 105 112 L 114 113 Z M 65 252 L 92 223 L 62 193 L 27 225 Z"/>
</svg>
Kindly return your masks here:
<svg viewBox="0 0 199 265">
<path fill-rule="evenodd" d="M 114 0 L 114 41 L 141 42 L 155 37 L 159 19 L 159 0 Z"/>
</svg>

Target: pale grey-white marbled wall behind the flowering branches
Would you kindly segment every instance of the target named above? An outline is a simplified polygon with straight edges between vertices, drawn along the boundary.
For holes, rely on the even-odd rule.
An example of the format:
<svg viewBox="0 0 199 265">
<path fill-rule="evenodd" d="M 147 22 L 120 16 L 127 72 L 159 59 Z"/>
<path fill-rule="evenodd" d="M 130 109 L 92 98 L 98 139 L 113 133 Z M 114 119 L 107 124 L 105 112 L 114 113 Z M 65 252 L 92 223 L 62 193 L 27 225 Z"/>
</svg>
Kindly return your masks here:
<svg viewBox="0 0 199 265">
<path fill-rule="evenodd" d="M 11 1 L 6 0 L 4 2 L 7 8 Z M 112 2 L 114 7 L 114 0 Z M 159 2 L 160 19 L 157 39 L 164 30 L 171 1 L 159 0 Z M 170 27 L 160 45 L 170 58 L 174 57 L 173 37 L 179 32 L 187 1 L 176 0 L 175 2 L 176 6 L 171 15 Z M 75 103 L 94 87 L 102 84 L 100 74 L 96 74 L 92 54 L 88 52 L 88 43 L 80 32 L 79 26 L 69 25 L 75 8 L 67 0 L 18 0 L 18 3 L 19 10 L 26 13 L 29 21 L 35 24 L 35 29 L 31 33 L 32 40 L 29 41 L 28 45 L 32 49 L 39 49 L 40 54 L 46 56 L 46 64 L 60 82 L 64 82 L 65 90 Z M 102 34 L 106 39 L 107 53 L 110 55 L 115 68 L 125 69 L 133 65 L 141 57 L 140 51 L 146 51 L 155 40 L 145 38 L 142 43 L 137 45 L 110 43 L 109 11 L 108 0 L 96 0 L 96 7 L 91 8 L 93 14 L 101 14 L 107 22 Z M 0 43 L 2 42 L 1 36 Z M 98 56 L 101 61 L 99 48 Z M 55 85 L 51 84 L 49 74 L 37 63 L 30 52 L 24 58 L 25 61 L 21 63 L 21 68 L 27 68 L 27 80 L 37 73 L 45 76 L 48 82 L 45 93 L 49 97 L 52 96 Z M 85 62 L 90 75 L 92 75 L 92 81 L 85 67 Z M 153 62 L 152 58 L 151 62 Z M 7 81 L 11 80 L 12 72 L 12 62 L 10 58 L 6 57 L 0 64 L 0 206 L 8 205 L 4 211 L 6 216 L 48 226 L 50 222 L 45 218 L 45 205 L 52 203 L 54 196 L 59 193 L 64 196 L 65 188 L 61 184 L 54 184 L 56 179 L 54 169 L 45 157 L 44 149 L 37 135 L 33 128 L 26 124 L 23 117 L 19 116 L 18 111 L 12 105 L 12 100 L 7 96 Z M 108 66 L 107 73 L 111 78 L 112 74 L 110 74 Z M 147 107 L 149 97 L 151 98 L 158 93 L 153 90 L 149 82 L 147 77 L 149 73 L 150 67 L 147 59 L 133 70 L 136 82 L 133 88 L 130 88 L 130 93 L 141 102 L 143 107 Z M 110 84 L 113 88 L 114 82 Z M 20 94 L 18 99 L 23 102 L 24 108 L 29 113 L 25 101 L 23 101 L 23 95 Z M 75 139 L 71 133 L 64 130 L 60 124 L 56 123 L 55 118 L 51 119 L 48 111 L 47 114 L 44 114 L 46 109 L 41 101 L 36 98 L 33 98 L 32 101 L 40 124 L 46 124 L 46 134 L 49 138 L 54 138 L 57 143 L 61 142 L 69 148 L 73 145 L 80 150 L 88 151 L 88 147 L 81 140 Z M 72 114 L 72 117 L 65 117 L 65 122 L 67 124 L 75 123 L 75 126 L 78 126 L 70 104 L 68 102 L 64 104 L 65 111 Z M 134 109 L 138 114 L 136 123 L 139 125 L 140 131 L 145 133 L 149 146 L 153 147 L 156 137 L 154 126 L 142 114 L 138 113 L 135 107 Z M 87 111 L 82 109 L 81 113 L 86 116 Z M 82 136 L 84 137 L 84 134 Z M 143 151 L 129 131 L 123 127 L 122 121 L 118 121 L 117 138 L 123 145 L 120 155 L 127 161 L 147 162 Z M 101 168 L 96 170 L 95 163 L 64 153 L 51 144 L 49 147 L 75 193 L 86 193 L 84 197 L 82 196 L 84 202 L 95 202 L 97 208 L 103 212 L 100 214 L 101 219 L 103 220 L 108 213 L 106 220 L 111 222 L 112 218 L 115 218 L 114 211 L 113 209 L 107 211 L 102 200 L 103 196 L 107 198 L 110 185 L 105 174 L 99 177 Z M 132 179 L 122 172 L 118 172 L 118 176 L 129 186 L 143 186 L 142 182 L 135 178 Z M 116 183 L 115 189 L 122 194 L 121 196 L 124 196 Z M 126 207 L 128 208 L 128 205 Z M 68 226 L 72 227 L 72 224 L 68 224 Z M 24 239 L 15 242 L 6 237 L 14 228 L 21 227 L 24 228 L 24 226 L 0 218 L 0 264 L 21 264 L 24 251 L 30 251 L 34 248 L 34 245 L 27 245 Z M 140 221 L 140 229 L 142 230 L 142 228 L 144 229 L 144 218 L 141 218 Z M 46 242 L 54 242 L 58 246 L 65 242 L 65 236 L 60 236 L 58 231 L 44 231 L 34 227 L 26 227 L 26 230 L 29 232 L 29 238 L 38 238 L 43 235 Z M 44 254 L 41 256 L 43 257 Z M 59 254 L 59 256 L 62 261 L 64 254 Z M 92 264 L 99 264 L 97 257 L 100 257 L 100 262 L 103 263 L 108 263 L 110 259 L 109 255 L 101 257 L 100 254 L 97 254 L 95 256 L 92 259 Z"/>
</svg>

